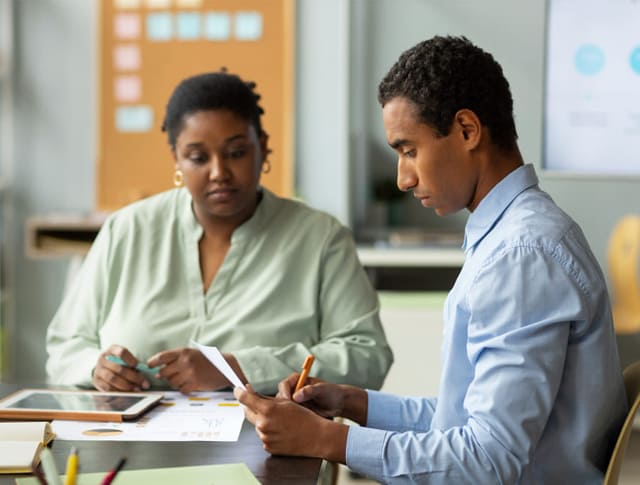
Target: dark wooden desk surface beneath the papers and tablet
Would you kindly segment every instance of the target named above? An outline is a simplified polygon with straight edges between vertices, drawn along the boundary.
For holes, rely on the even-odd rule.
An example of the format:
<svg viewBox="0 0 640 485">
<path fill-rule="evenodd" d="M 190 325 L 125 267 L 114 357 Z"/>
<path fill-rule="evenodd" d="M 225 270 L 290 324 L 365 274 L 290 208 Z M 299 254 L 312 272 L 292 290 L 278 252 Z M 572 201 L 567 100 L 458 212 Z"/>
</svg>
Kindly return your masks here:
<svg viewBox="0 0 640 485">
<path fill-rule="evenodd" d="M 30 386 L 33 387 L 33 386 Z M 19 386 L 0 383 L 0 396 Z M 143 441 L 62 441 L 54 440 L 51 451 L 60 473 L 64 473 L 72 446 L 78 449 L 82 472 L 107 472 L 127 457 L 127 470 L 172 466 L 245 463 L 263 484 L 316 484 L 322 460 L 271 456 L 253 425 L 245 420 L 237 442 L 143 442 Z M 24 475 L 0 475 L 0 485 L 14 484 Z"/>
</svg>

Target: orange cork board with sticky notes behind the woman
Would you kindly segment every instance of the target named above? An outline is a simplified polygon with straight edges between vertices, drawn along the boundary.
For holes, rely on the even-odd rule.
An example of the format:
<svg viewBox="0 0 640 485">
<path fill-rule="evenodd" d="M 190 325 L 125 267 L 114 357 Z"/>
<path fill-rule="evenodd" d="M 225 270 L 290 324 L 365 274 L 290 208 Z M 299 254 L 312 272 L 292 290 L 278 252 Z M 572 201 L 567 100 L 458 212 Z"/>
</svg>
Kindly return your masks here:
<svg viewBox="0 0 640 485">
<path fill-rule="evenodd" d="M 226 67 L 257 83 L 273 153 L 264 186 L 293 192 L 293 0 L 97 0 L 97 209 L 171 188 L 161 131 L 173 88 Z"/>
</svg>

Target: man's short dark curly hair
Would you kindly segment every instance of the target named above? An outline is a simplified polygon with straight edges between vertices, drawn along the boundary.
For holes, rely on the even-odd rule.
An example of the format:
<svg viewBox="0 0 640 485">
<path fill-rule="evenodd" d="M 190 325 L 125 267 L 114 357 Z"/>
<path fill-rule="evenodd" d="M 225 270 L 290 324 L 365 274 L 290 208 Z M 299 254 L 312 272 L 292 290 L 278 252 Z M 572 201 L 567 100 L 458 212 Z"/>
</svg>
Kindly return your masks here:
<svg viewBox="0 0 640 485">
<path fill-rule="evenodd" d="M 465 37 L 436 36 L 403 52 L 378 86 L 384 107 L 398 96 L 412 101 L 420 120 L 447 136 L 456 112 L 473 111 L 493 143 L 516 146 L 509 83 L 493 56 Z"/>
</svg>

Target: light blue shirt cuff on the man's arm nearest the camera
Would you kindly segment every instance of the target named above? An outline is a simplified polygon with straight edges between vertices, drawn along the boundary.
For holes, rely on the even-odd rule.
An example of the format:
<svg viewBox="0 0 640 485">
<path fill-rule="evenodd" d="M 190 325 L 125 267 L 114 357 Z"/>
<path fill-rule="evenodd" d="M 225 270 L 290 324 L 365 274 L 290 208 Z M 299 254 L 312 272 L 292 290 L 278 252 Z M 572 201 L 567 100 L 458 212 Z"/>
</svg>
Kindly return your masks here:
<svg viewBox="0 0 640 485">
<path fill-rule="evenodd" d="M 361 473 L 378 480 L 383 472 L 383 450 L 389 431 L 349 426 L 347 433 L 347 466 L 356 473 Z"/>
</svg>

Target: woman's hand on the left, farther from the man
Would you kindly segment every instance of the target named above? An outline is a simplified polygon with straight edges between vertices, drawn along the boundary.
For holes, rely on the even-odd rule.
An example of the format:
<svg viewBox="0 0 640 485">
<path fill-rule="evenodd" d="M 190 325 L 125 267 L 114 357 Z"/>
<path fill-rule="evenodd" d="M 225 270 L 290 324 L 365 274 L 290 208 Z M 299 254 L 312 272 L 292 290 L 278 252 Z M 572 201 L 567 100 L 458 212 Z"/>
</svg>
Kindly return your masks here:
<svg viewBox="0 0 640 485">
<path fill-rule="evenodd" d="M 127 365 L 116 364 L 107 359 L 113 355 L 122 359 Z M 121 345 L 112 345 L 100 354 L 93 370 L 92 383 L 99 391 L 141 391 L 149 389 L 149 381 L 136 370 L 138 359 Z"/>
</svg>

